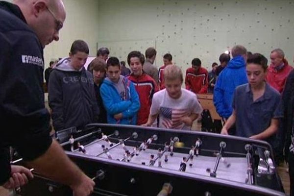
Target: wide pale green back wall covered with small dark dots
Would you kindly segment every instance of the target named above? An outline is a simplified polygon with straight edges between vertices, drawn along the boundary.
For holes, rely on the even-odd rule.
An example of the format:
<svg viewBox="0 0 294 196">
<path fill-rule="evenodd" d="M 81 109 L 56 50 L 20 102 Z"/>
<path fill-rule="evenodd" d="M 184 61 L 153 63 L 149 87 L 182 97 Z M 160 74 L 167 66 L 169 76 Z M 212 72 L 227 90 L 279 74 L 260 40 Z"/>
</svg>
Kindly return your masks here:
<svg viewBox="0 0 294 196">
<path fill-rule="evenodd" d="M 155 46 L 157 67 L 170 52 L 183 70 L 194 57 L 210 70 L 235 44 L 268 58 L 281 48 L 293 64 L 293 12 L 294 0 L 99 0 L 98 45 L 121 60 Z"/>
</svg>

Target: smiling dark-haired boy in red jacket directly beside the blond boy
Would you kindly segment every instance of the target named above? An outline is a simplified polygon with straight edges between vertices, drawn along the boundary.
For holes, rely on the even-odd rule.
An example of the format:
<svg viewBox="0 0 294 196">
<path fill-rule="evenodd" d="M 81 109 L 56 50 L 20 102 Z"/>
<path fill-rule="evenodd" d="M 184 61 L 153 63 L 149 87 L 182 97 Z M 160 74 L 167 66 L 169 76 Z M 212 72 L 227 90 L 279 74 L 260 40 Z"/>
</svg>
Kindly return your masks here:
<svg viewBox="0 0 294 196">
<path fill-rule="evenodd" d="M 138 125 L 147 123 L 153 94 L 158 91 L 155 80 L 143 71 L 144 61 L 144 55 L 140 51 L 131 51 L 127 55 L 127 63 L 132 71 L 128 79 L 134 83 L 141 104 L 137 116 Z"/>
</svg>

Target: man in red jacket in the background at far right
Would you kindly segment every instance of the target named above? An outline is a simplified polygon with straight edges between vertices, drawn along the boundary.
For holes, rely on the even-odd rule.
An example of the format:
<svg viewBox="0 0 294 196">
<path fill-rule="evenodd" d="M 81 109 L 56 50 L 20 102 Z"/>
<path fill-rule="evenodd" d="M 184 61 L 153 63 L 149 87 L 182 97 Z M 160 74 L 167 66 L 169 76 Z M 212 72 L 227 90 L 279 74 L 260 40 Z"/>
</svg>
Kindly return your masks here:
<svg viewBox="0 0 294 196">
<path fill-rule="evenodd" d="M 285 54 L 282 49 L 272 50 L 270 52 L 270 60 L 271 64 L 268 68 L 266 80 L 271 87 L 282 93 L 286 79 L 293 68 L 285 59 Z"/>
</svg>

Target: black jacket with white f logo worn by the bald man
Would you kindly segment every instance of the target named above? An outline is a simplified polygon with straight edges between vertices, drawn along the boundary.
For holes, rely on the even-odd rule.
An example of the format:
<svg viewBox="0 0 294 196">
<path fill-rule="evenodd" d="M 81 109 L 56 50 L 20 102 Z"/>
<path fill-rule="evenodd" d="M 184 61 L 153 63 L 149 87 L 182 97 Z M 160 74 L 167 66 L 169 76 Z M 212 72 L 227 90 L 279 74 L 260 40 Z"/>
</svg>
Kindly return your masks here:
<svg viewBox="0 0 294 196">
<path fill-rule="evenodd" d="M 37 35 L 18 6 L 0 1 L 0 184 L 10 176 L 8 146 L 33 160 L 51 145 L 43 71 Z"/>
</svg>

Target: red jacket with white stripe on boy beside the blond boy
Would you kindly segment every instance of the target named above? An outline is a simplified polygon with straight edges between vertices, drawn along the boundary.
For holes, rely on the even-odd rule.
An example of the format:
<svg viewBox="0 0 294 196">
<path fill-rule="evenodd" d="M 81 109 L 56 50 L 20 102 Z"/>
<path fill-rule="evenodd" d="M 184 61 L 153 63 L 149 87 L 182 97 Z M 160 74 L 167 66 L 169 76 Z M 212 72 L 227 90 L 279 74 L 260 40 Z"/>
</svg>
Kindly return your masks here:
<svg viewBox="0 0 294 196">
<path fill-rule="evenodd" d="M 128 79 L 134 83 L 141 103 L 141 107 L 138 112 L 137 124 L 141 125 L 147 123 L 152 97 L 154 93 L 159 90 L 157 83 L 151 76 L 144 72 L 140 76 L 135 76 L 131 73 L 128 76 Z"/>
</svg>

